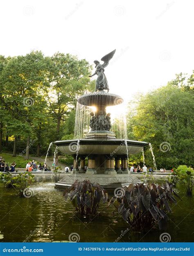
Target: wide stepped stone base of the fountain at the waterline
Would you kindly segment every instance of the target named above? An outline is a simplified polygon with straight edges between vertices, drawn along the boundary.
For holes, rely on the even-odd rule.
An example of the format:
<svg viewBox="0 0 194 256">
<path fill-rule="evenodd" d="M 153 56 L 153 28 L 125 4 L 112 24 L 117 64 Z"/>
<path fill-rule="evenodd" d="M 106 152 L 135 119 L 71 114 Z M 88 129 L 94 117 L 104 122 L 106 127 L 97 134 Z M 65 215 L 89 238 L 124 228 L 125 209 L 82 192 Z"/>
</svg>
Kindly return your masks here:
<svg viewBox="0 0 194 256">
<path fill-rule="evenodd" d="M 55 188 L 65 190 L 69 188 L 74 181 L 83 181 L 84 179 L 90 180 L 90 182 L 100 184 L 105 189 L 115 189 L 124 186 L 129 186 L 129 184 L 140 183 L 140 180 L 132 174 L 68 174 L 63 177 L 60 181 L 55 184 Z"/>
</svg>

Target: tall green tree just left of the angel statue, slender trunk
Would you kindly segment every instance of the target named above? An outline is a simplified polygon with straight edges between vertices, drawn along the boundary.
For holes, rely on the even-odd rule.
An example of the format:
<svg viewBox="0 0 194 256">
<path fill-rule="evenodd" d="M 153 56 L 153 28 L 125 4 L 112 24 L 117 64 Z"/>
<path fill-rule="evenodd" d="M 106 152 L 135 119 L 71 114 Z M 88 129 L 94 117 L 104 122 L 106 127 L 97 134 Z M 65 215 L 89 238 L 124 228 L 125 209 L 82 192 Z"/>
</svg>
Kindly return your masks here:
<svg viewBox="0 0 194 256">
<path fill-rule="evenodd" d="M 90 66 L 85 59 L 78 60 L 75 56 L 59 52 L 51 57 L 44 91 L 50 112 L 56 120 L 56 139 L 60 138 L 61 120 L 74 108 L 78 95 L 90 89 L 89 74 Z"/>
</svg>

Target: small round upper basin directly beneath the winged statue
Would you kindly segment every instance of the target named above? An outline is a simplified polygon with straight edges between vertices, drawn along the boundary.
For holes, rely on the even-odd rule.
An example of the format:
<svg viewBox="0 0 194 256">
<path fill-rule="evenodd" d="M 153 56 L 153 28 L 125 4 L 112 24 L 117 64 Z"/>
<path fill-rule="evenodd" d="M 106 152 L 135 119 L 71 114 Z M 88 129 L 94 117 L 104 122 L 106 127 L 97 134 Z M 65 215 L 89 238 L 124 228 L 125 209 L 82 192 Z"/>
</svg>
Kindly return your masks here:
<svg viewBox="0 0 194 256">
<path fill-rule="evenodd" d="M 123 103 L 123 99 L 113 93 L 98 91 L 82 95 L 77 102 L 85 106 L 114 106 Z"/>
</svg>

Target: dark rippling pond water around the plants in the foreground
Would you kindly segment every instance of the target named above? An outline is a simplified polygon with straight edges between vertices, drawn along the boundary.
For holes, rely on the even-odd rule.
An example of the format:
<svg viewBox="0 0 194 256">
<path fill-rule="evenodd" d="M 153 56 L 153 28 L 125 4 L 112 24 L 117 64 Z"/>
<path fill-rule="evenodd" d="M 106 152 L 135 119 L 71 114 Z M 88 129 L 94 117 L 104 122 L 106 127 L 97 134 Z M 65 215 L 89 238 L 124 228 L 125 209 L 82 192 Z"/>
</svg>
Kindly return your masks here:
<svg viewBox="0 0 194 256">
<path fill-rule="evenodd" d="M 79 220 L 71 202 L 65 202 L 63 191 L 54 189 L 51 180 L 39 179 L 32 188 L 33 197 L 20 198 L 0 184 L 1 242 L 62 241 L 69 240 L 71 233 L 79 234 L 80 242 L 160 242 L 164 232 L 170 234 L 171 242 L 193 242 L 194 199 L 185 195 L 180 184 L 176 192 L 182 201 L 177 198 L 178 204 L 171 206 L 167 231 L 153 228 L 142 233 L 130 231 L 129 224 L 107 204 L 100 204 L 100 215 L 92 221 Z"/>
</svg>

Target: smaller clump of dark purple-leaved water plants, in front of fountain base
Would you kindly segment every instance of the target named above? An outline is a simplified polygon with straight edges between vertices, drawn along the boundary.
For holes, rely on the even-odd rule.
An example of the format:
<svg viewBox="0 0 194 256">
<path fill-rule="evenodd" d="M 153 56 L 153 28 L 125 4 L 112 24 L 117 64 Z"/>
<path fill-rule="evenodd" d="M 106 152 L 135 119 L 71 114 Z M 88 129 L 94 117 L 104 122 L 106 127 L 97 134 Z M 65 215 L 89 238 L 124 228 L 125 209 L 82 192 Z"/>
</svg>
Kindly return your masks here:
<svg viewBox="0 0 194 256">
<path fill-rule="evenodd" d="M 81 217 L 96 215 L 100 201 L 105 203 L 108 200 L 106 190 L 99 184 L 90 183 L 89 180 L 76 180 L 63 195 L 66 201 L 69 199 L 72 202 Z"/>
</svg>

